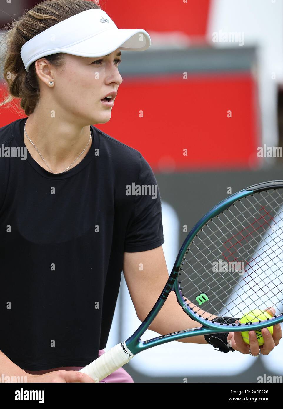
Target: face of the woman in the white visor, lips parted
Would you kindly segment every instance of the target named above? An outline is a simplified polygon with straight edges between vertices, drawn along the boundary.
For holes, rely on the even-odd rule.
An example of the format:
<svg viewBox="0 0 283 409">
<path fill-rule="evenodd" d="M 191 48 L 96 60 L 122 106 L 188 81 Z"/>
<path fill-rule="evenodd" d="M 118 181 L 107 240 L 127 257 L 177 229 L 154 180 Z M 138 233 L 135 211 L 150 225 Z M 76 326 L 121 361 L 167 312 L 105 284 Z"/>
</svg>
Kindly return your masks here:
<svg viewBox="0 0 283 409">
<path fill-rule="evenodd" d="M 101 102 L 110 92 L 117 92 L 123 81 L 118 71 L 119 48 L 104 57 L 79 57 L 65 54 L 65 65 L 54 72 L 54 98 L 61 115 L 71 113 L 82 124 L 104 124 L 111 118 L 111 104 Z M 115 102 L 114 102 L 115 103 Z M 111 106 L 110 106 L 111 105 Z M 62 110 L 63 111 L 62 111 Z"/>
</svg>

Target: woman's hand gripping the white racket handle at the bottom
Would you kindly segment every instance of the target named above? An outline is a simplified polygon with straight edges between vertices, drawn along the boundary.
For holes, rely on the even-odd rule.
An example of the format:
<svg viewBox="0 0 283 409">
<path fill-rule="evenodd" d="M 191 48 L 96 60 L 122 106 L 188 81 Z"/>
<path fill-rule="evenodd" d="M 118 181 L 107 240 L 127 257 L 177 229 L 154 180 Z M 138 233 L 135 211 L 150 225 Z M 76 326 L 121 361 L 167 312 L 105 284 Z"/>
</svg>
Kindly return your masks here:
<svg viewBox="0 0 283 409">
<path fill-rule="evenodd" d="M 43 375 L 27 374 L 27 382 L 94 382 L 94 380 L 83 372 L 52 371 Z"/>
</svg>

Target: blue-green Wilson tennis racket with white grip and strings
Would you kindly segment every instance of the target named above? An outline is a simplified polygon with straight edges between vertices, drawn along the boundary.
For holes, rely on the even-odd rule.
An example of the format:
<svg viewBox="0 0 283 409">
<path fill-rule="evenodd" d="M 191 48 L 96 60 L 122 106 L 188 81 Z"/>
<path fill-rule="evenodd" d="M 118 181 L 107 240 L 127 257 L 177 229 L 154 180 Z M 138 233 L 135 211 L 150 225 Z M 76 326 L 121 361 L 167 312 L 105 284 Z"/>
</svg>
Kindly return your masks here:
<svg viewBox="0 0 283 409">
<path fill-rule="evenodd" d="M 142 341 L 141 337 L 174 291 L 177 302 L 196 323 Z M 224 317 L 274 306 L 265 321 L 228 324 Z M 222 317 L 224 322 L 215 322 Z M 224 332 L 250 331 L 283 321 L 283 180 L 263 182 L 222 200 L 191 229 L 168 281 L 144 322 L 81 369 L 99 382 L 148 348 L 166 342 Z"/>
</svg>

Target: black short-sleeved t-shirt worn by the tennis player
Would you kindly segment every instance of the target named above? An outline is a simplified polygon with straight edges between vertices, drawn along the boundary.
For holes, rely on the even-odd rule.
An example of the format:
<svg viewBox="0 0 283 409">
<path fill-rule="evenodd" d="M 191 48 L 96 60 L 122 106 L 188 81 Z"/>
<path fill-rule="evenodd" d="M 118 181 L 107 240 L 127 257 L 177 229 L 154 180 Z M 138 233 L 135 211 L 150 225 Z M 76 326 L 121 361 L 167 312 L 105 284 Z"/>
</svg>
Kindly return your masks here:
<svg viewBox="0 0 283 409">
<path fill-rule="evenodd" d="M 106 346 L 123 253 L 164 243 L 157 182 L 138 151 L 94 126 L 62 174 L 27 150 L 2 157 L 25 148 L 26 120 L 0 128 L 0 350 L 29 371 L 85 366 Z M 137 186 L 151 196 L 128 194 Z"/>
</svg>

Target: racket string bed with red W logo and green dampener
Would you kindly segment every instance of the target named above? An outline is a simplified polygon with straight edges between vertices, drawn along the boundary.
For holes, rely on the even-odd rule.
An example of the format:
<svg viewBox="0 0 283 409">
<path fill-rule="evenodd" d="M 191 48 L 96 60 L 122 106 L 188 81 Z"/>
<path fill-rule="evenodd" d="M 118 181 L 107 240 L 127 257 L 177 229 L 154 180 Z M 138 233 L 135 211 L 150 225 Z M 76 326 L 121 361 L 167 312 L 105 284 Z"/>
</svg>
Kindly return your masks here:
<svg viewBox="0 0 283 409">
<path fill-rule="evenodd" d="M 282 227 L 282 189 L 242 198 L 209 220 L 183 259 L 184 302 L 210 320 L 271 306 L 282 314 Z"/>
</svg>

